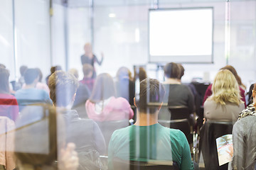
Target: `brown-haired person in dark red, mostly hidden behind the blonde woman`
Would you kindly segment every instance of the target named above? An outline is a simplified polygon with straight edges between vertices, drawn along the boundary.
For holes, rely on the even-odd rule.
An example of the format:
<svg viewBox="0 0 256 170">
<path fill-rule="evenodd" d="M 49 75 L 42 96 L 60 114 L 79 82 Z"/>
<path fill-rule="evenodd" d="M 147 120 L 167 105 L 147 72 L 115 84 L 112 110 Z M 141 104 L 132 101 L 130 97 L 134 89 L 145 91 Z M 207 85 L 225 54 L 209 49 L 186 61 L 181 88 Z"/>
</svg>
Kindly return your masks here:
<svg viewBox="0 0 256 170">
<path fill-rule="evenodd" d="M 245 107 L 246 107 L 246 101 L 245 101 L 245 89 L 246 89 L 246 87 L 245 87 L 244 84 L 242 84 L 241 78 L 238 76 L 238 73 L 236 72 L 235 68 L 232 67 L 232 66 L 230 66 L 230 65 L 227 65 L 227 66 L 225 66 L 225 67 L 223 67 L 223 68 L 221 68 L 221 69 L 228 69 L 228 70 L 229 70 L 230 72 L 232 72 L 233 75 L 235 76 L 236 81 L 238 81 L 241 100 L 244 102 L 244 105 L 245 105 Z M 220 69 L 220 70 L 221 70 L 221 69 Z M 205 103 L 206 99 L 207 99 L 210 95 L 213 94 L 213 92 L 212 92 L 212 86 L 213 86 L 213 84 L 210 84 L 210 85 L 208 86 L 208 88 L 206 89 L 206 94 L 205 94 L 205 96 L 203 97 L 203 104 Z"/>
</svg>

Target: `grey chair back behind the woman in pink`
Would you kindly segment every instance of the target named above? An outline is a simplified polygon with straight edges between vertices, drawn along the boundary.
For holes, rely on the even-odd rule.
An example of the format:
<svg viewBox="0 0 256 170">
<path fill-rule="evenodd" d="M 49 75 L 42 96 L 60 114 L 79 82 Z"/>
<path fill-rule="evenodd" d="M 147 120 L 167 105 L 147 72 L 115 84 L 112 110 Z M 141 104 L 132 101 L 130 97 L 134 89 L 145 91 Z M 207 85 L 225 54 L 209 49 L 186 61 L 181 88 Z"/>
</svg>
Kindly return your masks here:
<svg viewBox="0 0 256 170">
<path fill-rule="evenodd" d="M 118 129 L 129 126 L 129 120 L 112 120 L 112 121 L 104 121 L 104 122 L 96 122 L 96 123 L 97 125 L 99 125 L 99 128 L 102 131 L 102 135 L 105 138 L 107 147 L 110 143 L 110 138 L 114 130 L 118 130 Z"/>
</svg>

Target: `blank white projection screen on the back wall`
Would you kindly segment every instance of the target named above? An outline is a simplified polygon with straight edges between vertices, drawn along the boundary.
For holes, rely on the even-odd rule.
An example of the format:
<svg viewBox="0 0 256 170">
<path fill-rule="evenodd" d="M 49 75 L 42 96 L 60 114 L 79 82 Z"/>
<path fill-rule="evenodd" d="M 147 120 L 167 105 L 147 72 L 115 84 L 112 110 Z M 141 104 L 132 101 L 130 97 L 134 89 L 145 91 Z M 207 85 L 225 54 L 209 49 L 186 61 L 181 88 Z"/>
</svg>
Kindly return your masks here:
<svg viewBox="0 0 256 170">
<path fill-rule="evenodd" d="M 212 63 L 213 8 L 149 9 L 149 62 Z"/>
</svg>

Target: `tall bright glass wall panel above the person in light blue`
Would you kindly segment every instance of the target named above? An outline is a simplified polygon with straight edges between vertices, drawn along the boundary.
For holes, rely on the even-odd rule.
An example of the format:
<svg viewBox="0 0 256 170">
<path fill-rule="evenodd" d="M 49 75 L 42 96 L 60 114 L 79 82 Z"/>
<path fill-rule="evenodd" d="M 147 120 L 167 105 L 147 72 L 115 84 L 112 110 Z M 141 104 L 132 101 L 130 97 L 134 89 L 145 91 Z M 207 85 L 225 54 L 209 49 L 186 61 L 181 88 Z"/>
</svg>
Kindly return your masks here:
<svg viewBox="0 0 256 170">
<path fill-rule="evenodd" d="M 50 69 L 49 0 L 15 1 L 18 67 Z"/>
</svg>

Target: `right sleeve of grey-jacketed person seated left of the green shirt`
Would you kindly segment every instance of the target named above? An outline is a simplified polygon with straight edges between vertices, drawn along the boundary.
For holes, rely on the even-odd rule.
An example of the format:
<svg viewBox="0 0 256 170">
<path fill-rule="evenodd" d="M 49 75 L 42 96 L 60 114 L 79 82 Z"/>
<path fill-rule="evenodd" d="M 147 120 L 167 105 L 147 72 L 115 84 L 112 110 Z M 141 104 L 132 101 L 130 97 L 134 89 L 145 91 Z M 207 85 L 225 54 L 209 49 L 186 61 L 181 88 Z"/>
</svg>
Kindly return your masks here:
<svg viewBox="0 0 256 170">
<path fill-rule="evenodd" d="M 94 135 L 96 149 L 100 153 L 100 155 L 104 155 L 106 152 L 105 139 L 104 139 L 102 132 L 101 132 L 99 126 L 97 125 L 97 123 L 95 123 L 95 121 L 93 121 L 92 124 L 93 124 L 92 133 Z"/>
</svg>

